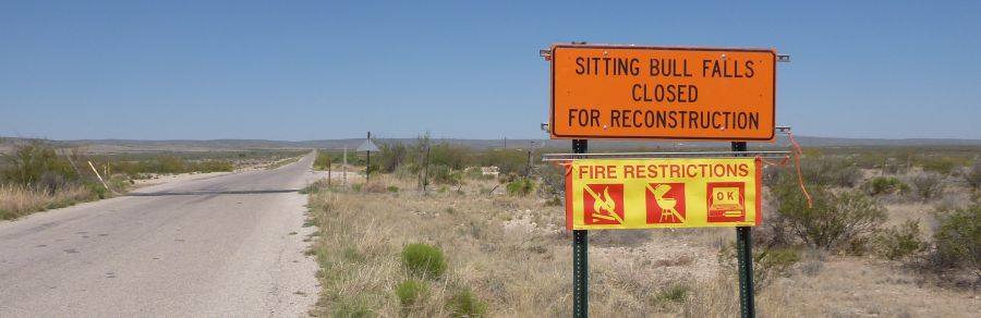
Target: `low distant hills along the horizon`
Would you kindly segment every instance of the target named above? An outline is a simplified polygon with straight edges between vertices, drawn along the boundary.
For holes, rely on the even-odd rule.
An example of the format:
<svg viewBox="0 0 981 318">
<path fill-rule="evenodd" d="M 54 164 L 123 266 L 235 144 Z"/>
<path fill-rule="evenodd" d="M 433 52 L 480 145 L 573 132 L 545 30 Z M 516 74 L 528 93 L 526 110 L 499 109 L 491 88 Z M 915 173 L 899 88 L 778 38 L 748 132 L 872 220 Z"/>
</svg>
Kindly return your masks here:
<svg viewBox="0 0 981 318">
<path fill-rule="evenodd" d="M 872 138 L 828 138 L 798 136 L 797 142 L 803 147 L 860 147 L 860 146 L 981 146 L 981 139 L 872 139 Z M 26 138 L 0 137 L 0 151 L 8 151 L 11 147 L 29 142 Z M 263 140 L 263 139 L 214 139 L 214 140 L 131 140 L 131 139 L 78 139 L 78 140 L 48 140 L 56 147 L 84 147 L 90 152 L 156 152 L 156 151 L 229 151 L 249 149 L 354 149 L 364 138 L 347 139 L 320 139 L 304 142 Z M 415 138 L 378 138 L 376 143 L 405 143 L 414 144 Z M 528 149 L 569 149 L 571 140 L 553 139 L 438 139 L 434 143 L 448 143 L 451 145 L 467 146 L 475 149 L 513 148 Z M 789 145 L 786 136 L 778 136 L 776 143 L 752 143 L 754 148 L 784 148 Z M 658 148 L 725 148 L 729 143 L 697 143 L 697 142 L 622 142 L 622 140 L 592 140 L 592 150 L 629 150 L 629 149 L 658 149 Z"/>
</svg>

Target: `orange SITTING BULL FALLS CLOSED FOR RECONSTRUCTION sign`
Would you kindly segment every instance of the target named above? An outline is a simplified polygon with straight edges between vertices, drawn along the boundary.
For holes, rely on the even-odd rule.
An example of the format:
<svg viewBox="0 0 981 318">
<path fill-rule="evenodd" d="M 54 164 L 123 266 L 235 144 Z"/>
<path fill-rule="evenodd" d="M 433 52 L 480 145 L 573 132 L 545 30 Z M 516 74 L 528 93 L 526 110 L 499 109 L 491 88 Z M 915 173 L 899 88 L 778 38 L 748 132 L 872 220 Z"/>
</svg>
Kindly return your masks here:
<svg viewBox="0 0 981 318">
<path fill-rule="evenodd" d="M 774 139 L 776 51 L 552 47 L 553 139 Z"/>
</svg>

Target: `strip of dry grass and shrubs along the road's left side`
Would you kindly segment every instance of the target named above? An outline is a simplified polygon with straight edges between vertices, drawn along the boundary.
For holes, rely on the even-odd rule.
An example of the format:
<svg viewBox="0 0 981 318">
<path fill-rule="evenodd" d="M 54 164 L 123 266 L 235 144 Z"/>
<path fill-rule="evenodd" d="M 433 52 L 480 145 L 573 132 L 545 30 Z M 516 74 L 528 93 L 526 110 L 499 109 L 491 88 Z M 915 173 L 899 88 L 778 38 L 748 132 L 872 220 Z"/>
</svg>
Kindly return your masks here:
<svg viewBox="0 0 981 318">
<path fill-rule="evenodd" d="M 0 152 L 0 220 L 125 193 L 165 174 L 230 172 L 305 152 L 87 154 L 35 139 Z M 279 160 L 278 162 L 282 162 Z M 100 180 L 101 178 L 101 180 Z"/>
</svg>

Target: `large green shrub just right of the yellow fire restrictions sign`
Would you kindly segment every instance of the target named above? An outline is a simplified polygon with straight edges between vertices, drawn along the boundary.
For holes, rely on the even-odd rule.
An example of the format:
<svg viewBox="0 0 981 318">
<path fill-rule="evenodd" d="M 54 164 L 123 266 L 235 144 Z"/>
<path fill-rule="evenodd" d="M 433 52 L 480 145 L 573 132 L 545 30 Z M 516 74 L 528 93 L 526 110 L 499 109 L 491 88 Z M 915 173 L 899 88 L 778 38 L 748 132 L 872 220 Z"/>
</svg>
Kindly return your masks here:
<svg viewBox="0 0 981 318">
<path fill-rule="evenodd" d="M 782 181 L 772 191 L 776 212 L 786 218 L 791 232 L 804 243 L 825 250 L 874 232 L 886 220 L 885 208 L 862 192 L 834 194 L 811 186 L 813 207 L 808 208 L 804 195 L 794 182 Z"/>
</svg>

